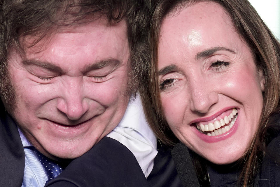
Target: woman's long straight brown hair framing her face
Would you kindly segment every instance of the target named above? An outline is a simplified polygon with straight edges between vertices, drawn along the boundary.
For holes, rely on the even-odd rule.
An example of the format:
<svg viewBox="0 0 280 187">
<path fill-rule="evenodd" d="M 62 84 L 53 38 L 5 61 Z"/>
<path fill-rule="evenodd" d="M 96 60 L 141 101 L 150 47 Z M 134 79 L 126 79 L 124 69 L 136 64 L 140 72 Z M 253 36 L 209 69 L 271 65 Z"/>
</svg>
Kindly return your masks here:
<svg viewBox="0 0 280 187">
<path fill-rule="evenodd" d="M 151 98 L 150 103 L 146 103 L 145 110 L 152 129 L 158 138 L 167 144 L 172 144 L 169 138 L 170 129 L 162 115 L 162 106 L 159 96 L 159 85 L 157 78 L 157 52 L 160 37 L 160 26 L 162 20 L 180 12 L 181 8 L 192 4 L 209 1 L 220 4 L 232 19 L 233 25 L 240 37 L 246 41 L 255 56 L 256 66 L 263 71 L 265 76 L 265 91 L 263 92 L 263 108 L 259 120 L 257 133 L 251 141 L 240 162 L 243 164 L 240 183 L 243 187 L 250 186 L 258 172 L 261 157 L 264 154 L 266 129 L 275 111 L 279 111 L 280 96 L 280 44 L 271 31 L 262 21 L 258 13 L 247 0 L 158 0 L 154 3 L 154 12 L 151 21 L 150 45 L 151 64 L 148 72 L 146 95 Z M 150 117 L 154 112 L 156 117 Z M 159 122 L 155 122 L 155 119 Z M 173 138 L 173 137 L 171 137 Z M 199 171 L 198 171 L 198 175 Z"/>
</svg>

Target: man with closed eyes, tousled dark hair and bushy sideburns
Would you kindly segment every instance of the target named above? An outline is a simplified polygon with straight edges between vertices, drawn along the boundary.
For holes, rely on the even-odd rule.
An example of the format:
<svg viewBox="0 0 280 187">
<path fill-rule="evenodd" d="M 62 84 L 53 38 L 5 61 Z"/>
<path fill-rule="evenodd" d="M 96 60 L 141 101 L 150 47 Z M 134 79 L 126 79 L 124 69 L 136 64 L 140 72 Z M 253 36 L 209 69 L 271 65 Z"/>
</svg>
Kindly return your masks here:
<svg viewBox="0 0 280 187">
<path fill-rule="evenodd" d="M 133 120 L 116 127 L 130 118 L 127 105 L 146 68 L 145 1 L 7 0 L 0 6 L 0 186 L 44 186 L 51 178 L 37 155 L 67 162 L 111 138 L 134 153 L 147 177 L 157 151 L 146 121 L 140 129 Z"/>
</svg>

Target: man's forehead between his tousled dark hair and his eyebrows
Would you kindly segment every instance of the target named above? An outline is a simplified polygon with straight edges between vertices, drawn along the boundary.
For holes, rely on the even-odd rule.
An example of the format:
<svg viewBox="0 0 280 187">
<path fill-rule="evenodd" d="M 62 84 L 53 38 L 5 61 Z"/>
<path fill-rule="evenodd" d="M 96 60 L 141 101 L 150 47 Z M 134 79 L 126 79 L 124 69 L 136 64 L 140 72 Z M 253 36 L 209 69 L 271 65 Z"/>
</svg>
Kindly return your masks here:
<svg viewBox="0 0 280 187">
<path fill-rule="evenodd" d="M 36 39 L 38 43 L 32 45 Z M 22 44 L 25 47 L 21 57 L 27 64 L 53 64 L 62 69 L 69 66 L 84 70 L 86 67 L 126 63 L 130 54 L 124 20 L 109 24 L 107 20 L 99 19 L 57 27 L 40 40 L 38 36 L 26 36 Z"/>
</svg>

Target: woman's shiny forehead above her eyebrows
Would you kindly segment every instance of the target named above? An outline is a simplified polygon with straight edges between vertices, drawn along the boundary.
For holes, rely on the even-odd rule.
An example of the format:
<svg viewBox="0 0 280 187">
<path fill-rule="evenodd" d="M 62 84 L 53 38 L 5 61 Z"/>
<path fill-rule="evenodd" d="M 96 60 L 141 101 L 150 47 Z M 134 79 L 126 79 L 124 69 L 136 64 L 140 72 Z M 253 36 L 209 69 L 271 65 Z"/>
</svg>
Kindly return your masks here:
<svg viewBox="0 0 280 187">
<path fill-rule="evenodd" d="M 236 48 L 241 43 L 224 8 L 217 3 L 201 2 L 163 20 L 158 50 L 160 57 L 170 51 L 197 53 L 213 47 Z"/>
</svg>

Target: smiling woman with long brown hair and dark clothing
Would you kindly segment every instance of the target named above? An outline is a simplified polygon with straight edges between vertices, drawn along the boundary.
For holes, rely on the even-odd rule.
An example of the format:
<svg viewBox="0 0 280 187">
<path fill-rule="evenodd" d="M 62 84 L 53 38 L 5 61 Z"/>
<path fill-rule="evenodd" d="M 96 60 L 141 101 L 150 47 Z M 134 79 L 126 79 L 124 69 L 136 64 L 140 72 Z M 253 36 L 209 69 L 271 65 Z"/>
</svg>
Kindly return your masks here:
<svg viewBox="0 0 280 187">
<path fill-rule="evenodd" d="M 277 145 L 277 131 L 271 128 L 280 129 L 275 115 L 280 45 L 251 4 L 160 1 L 153 14 L 151 44 L 147 95 L 161 121 L 158 125 L 150 117 L 151 124 L 157 136 L 170 143 L 164 135 L 168 124 L 194 152 L 190 155 L 200 185 L 279 185 L 278 179 L 261 180 L 269 178 L 265 175 L 271 169 L 269 163 L 261 164 L 274 164 L 266 146 Z M 183 153 L 173 150 L 174 157 L 178 154 Z M 274 166 L 273 172 L 279 172 Z M 178 172 L 182 179 L 184 171 Z"/>
</svg>

